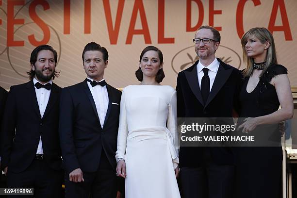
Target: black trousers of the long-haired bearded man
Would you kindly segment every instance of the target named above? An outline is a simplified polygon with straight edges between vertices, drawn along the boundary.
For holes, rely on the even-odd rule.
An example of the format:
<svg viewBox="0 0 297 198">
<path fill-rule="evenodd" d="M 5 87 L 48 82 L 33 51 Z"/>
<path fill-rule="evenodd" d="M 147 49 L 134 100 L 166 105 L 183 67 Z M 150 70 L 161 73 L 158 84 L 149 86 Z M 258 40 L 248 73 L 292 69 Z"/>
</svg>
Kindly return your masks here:
<svg viewBox="0 0 297 198">
<path fill-rule="evenodd" d="M 34 188 L 34 196 L 9 196 L 9 198 L 61 198 L 63 171 L 49 168 L 44 160 L 33 160 L 23 172 L 7 171 L 7 187 Z"/>
</svg>

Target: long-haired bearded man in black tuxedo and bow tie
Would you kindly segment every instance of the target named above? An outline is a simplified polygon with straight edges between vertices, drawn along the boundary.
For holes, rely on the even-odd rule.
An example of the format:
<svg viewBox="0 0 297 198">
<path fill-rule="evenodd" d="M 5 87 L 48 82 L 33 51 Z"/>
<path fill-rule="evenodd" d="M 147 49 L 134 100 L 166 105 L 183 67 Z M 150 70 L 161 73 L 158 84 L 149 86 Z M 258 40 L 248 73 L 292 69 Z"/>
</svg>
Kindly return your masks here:
<svg viewBox="0 0 297 198">
<path fill-rule="evenodd" d="M 33 187 L 35 198 L 60 197 L 63 171 L 59 142 L 61 87 L 52 82 L 57 52 L 33 49 L 31 81 L 11 86 L 2 122 L 2 169 L 7 187 Z"/>
</svg>

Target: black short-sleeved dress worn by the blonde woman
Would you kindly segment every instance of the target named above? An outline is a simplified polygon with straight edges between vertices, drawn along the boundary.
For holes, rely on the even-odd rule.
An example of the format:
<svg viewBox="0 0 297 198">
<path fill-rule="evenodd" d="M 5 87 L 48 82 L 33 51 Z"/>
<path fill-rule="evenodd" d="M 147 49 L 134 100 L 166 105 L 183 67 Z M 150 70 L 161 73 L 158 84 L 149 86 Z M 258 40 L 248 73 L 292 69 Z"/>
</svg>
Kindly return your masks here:
<svg viewBox="0 0 297 198">
<path fill-rule="evenodd" d="M 281 65 L 268 67 L 260 78 L 256 88 L 248 93 L 244 78 L 240 92 L 240 117 L 258 117 L 271 114 L 279 109 L 280 102 L 275 87 L 269 82 L 279 74 L 287 74 Z M 239 121 L 239 125 L 242 120 Z M 239 126 L 238 125 L 238 126 Z M 261 129 L 262 126 L 259 126 Z M 258 127 L 257 127 L 258 128 Z M 273 139 L 274 147 L 237 147 L 235 154 L 235 198 L 280 198 L 281 194 L 281 134 L 276 126 L 274 130 L 259 131 L 256 135 Z M 251 132 L 252 134 L 253 132 Z M 257 137 L 257 136 L 255 136 Z M 263 142 L 263 144 L 265 144 Z"/>
</svg>

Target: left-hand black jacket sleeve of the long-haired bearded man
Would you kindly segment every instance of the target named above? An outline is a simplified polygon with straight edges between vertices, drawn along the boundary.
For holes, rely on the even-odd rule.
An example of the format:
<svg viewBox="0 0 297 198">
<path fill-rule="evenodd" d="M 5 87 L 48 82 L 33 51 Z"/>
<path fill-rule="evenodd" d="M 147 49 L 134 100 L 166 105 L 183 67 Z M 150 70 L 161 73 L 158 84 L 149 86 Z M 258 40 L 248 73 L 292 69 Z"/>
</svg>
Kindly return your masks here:
<svg viewBox="0 0 297 198">
<path fill-rule="evenodd" d="M 1 126 L 1 168 L 8 166 L 16 133 L 16 90 L 12 86 L 7 97 Z"/>
</svg>

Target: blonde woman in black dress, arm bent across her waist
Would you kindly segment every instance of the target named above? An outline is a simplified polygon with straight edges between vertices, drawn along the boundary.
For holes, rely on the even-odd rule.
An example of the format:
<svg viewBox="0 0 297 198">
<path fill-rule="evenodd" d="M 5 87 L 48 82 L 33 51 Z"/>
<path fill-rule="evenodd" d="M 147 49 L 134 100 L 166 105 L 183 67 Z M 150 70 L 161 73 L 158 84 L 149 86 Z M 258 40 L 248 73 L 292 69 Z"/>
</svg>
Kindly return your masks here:
<svg viewBox="0 0 297 198">
<path fill-rule="evenodd" d="M 293 98 L 287 69 L 279 65 L 272 34 L 266 28 L 252 28 L 241 39 L 247 64 L 240 93 L 239 124 L 243 133 L 273 139 L 274 147 L 241 147 L 236 153 L 236 198 L 279 198 L 281 193 L 281 134 L 259 131 L 293 116 Z M 279 106 L 281 108 L 279 109 Z M 256 131 L 254 131 L 256 129 Z M 263 144 L 265 144 L 263 142 Z"/>
</svg>

